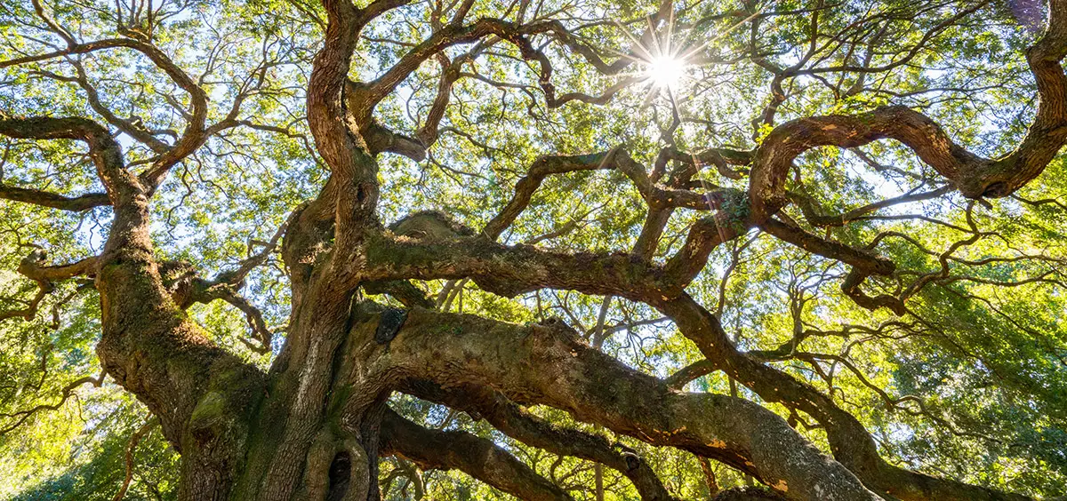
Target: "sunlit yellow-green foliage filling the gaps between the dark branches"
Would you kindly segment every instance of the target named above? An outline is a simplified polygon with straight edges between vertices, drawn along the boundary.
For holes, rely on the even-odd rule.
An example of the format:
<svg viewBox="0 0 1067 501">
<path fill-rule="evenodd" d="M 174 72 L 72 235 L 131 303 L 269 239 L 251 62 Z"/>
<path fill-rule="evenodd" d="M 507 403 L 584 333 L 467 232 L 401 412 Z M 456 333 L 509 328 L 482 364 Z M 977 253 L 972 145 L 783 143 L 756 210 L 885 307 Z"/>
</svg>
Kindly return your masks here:
<svg viewBox="0 0 1067 501">
<path fill-rule="evenodd" d="M 57 22 L 76 27 L 80 38 L 115 36 L 110 2 L 45 3 Z M 153 238 L 160 257 L 188 262 L 210 277 L 258 252 L 261 244 L 256 241 L 269 241 L 289 212 L 314 197 L 327 178 L 304 116 L 304 88 L 319 48 L 323 13 L 318 2 L 303 0 L 162 3 L 172 14 L 154 31 L 153 42 L 198 78 L 211 98 L 209 123 L 227 114 L 239 93 L 255 80 L 250 75 L 261 79 L 257 91 L 243 98 L 240 113 L 241 119 L 260 127 L 235 127 L 212 136 L 175 167 L 154 199 Z M 413 2 L 369 26 L 351 77 L 380 76 L 429 34 L 431 18 L 447 20 L 434 14 L 432 3 Z M 509 3 L 477 1 L 468 19 L 513 15 L 505 12 Z M 643 29 L 643 16 L 654 12 L 657 2 L 541 3 L 541 14 L 558 14 L 575 29 L 584 26 L 583 41 L 614 60 L 614 51 L 630 46 L 631 36 Z M 686 151 L 759 146 L 774 129 L 761 122 L 770 99 L 771 76 L 747 58 L 748 44 L 758 35 L 759 53 L 767 64 L 787 67 L 800 61 L 811 26 L 803 10 L 813 2 L 675 3 L 678 42 L 692 46 L 714 41 L 701 55 L 729 64 L 689 68 L 691 78 L 673 104 L 663 93 L 638 83 L 620 92 L 609 106 L 571 102 L 547 109 L 534 84 L 540 78 L 536 65 L 523 62 L 512 47 L 496 46 L 466 68 L 483 79 L 456 83 L 452 106 L 442 122 L 444 132 L 427 161 L 380 157 L 382 221 L 388 224 L 416 210 L 439 209 L 471 228 L 481 228 L 507 204 L 528 166 L 544 155 L 624 145 L 648 165 L 665 145 L 665 138 Z M 758 29 L 750 30 L 751 22 L 732 29 L 755 11 L 746 11 L 746 5 L 801 14 L 765 16 Z M 898 13 L 892 21 L 880 21 L 885 26 L 862 27 L 870 35 L 858 38 L 866 41 L 885 28 L 883 45 L 870 54 L 870 64 L 888 65 L 907 53 L 927 30 L 968 5 L 849 0 L 823 10 L 819 22 L 828 32 L 840 31 L 867 13 Z M 740 14 L 723 15 L 730 12 Z M 4 2 L 0 61 L 42 52 L 41 41 L 64 45 L 35 19 L 30 1 Z M 593 19 L 596 22 L 587 22 Z M 981 9 L 973 19 L 933 36 L 909 64 L 876 76 L 844 71 L 790 79 L 791 97 L 778 110 L 775 124 L 904 103 L 936 119 L 961 145 L 990 157 L 1003 155 L 1025 133 L 1034 114 L 1033 77 L 1021 55 L 1033 36 L 1003 6 Z M 854 45 L 853 50 L 832 52 L 819 64 L 857 64 L 867 49 L 862 43 Z M 465 50 L 469 47 L 453 47 L 446 53 L 458 56 Z M 545 50 L 556 68 L 553 82 L 562 92 L 598 95 L 617 81 L 556 45 Z M 184 127 L 188 96 L 163 71 L 129 50 L 35 63 L 29 71 L 0 69 L 0 110 L 102 122 L 84 88 L 74 80 L 78 76 L 74 62 L 97 90 L 102 104 L 121 117 L 152 130 Z M 436 95 L 440 76 L 436 63 L 424 64 L 382 102 L 376 117 L 387 127 L 412 133 Z M 842 92 L 853 86 L 860 91 Z M 671 130 L 672 106 L 684 119 L 673 133 L 665 134 Z M 128 134 L 115 133 L 133 171 L 140 172 L 153 151 Z M 0 150 L 4 184 L 69 195 L 102 190 L 94 165 L 76 143 L 4 139 Z M 849 150 L 809 151 L 797 160 L 790 190 L 810 197 L 823 212 L 835 214 L 943 183 L 897 143 L 873 143 L 861 151 L 877 162 L 865 162 Z M 746 179 L 730 179 L 713 168 L 703 169 L 696 179 L 705 187 L 747 189 Z M 934 282 L 909 300 L 911 312 L 905 318 L 886 310 L 869 311 L 845 296 L 840 285 L 847 269 L 840 262 L 755 231 L 717 248 L 687 291 L 720 316 L 743 350 L 773 352 L 789 345 L 798 334 L 809 333 L 786 354 L 803 352 L 823 358 L 782 357 L 771 363 L 832 394 L 874 432 L 890 460 L 997 488 L 1062 495 L 1067 485 L 1067 296 L 1061 271 L 1067 259 L 1065 196 L 1067 161 L 1061 156 L 1020 191 L 1019 199 L 996 200 L 985 208 L 969 206 L 958 195 L 945 195 L 873 212 L 843 227 L 808 228 L 858 247 L 877 239 L 873 250 L 893 260 L 901 273 L 872 277 L 864 287 L 871 293 L 901 293 L 915 277 L 941 271 L 940 254 L 969 237 L 970 217 L 983 237 L 954 255 L 949 273 L 955 278 Z M 796 206 L 784 214 L 805 221 Z M 675 211 L 654 261 L 663 263 L 678 252 L 691 223 L 703 215 Z M 0 203 L 0 270 L 16 270 L 35 247 L 47 248 L 55 262 L 95 255 L 110 216 L 106 207 L 68 214 Z M 627 252 L 644 216 L 640 194 L 620 173 L 551 176 L 500 241 L 537 241 L 560 250 Z M 987 261 L 1038 255 L 1044 258 Z M 466 280 L 416 287 L 430 297 L 440 294 L 443 309 L 514 323 L 558 317 L 590 340 L 603 305 L 602 297 L 568 291 L 503 298 Z M 35 284 L 12 272 L 0 272 L 0 310 L 4 311 L 23 307 L 36 291 Z M 275 349 L 280 348 L 290 297 L 276 256 L 252 272 L 242 292 L 277 330 Z M 34 320 L 13 318 L 0 323 L 0 414 L 5 416 L 0 430 L 13 423 L 17 413 L 59 402 L 68 383 L 99 373 L 94 353 L 99 338 L 97 301 L 89 284 L 64 282 L 45 300 Z M 191 312 L 218 344 L 264 367 L 271 361 L 273 355 L 257 355 L 240 342 L 248 325 L 235 308 L 214 302 L 197 305 Z M 671 323 L 644 305 L 614 300 L 605 328 L 606 353 L 657 376 L 666 377 L 700 359 Z M 849 366 L 833 357 L 848 360 Z M 703 376 L 687 388 L 758 400 L 720 373 Z M 523 446 L 482 421 L 408 397 L 394 398 L 392 405 L 420 424 L 491 438 L 544 476 L 573 487 L 575 496 L 591 499 L 593 472 L 587 462 Z M 769 407 L 790 417 L 781 407 Z M 609 435 L 558 410 L 534 411 L 560 426 Z M 22 425 L 0 436 L 0 498 L 110 499 L 125 474 L 129 437 L 145 416 L 143 406 L 111 383 L 99 388 L 83 385 L 57 410 L 33 413 Z M 813 424 L 808 417 L 792 418 L 800 421 L 797 427 L 816 445 L 826 447 L 821 431 L 805 426 Z M 650 460 L 675 496 L 707 496 L 694 456 L 628 438 L 609 438 Z M 158 430 L 152 432 L 136 449 L 133 482 L 126 499 L 173 499 L 176 462 Z M 716 464 L 714 470 L 722 487 L 745 483 L 740 474 L 722 465 Z M 384 459 L 383 481 L 394 472 L 387 499 L 415 497 L 419 482 L 424 499 L 505 499 L 458 472 L 418 472 L 402 458 Z M 606 499 L 636 499 L 621 475 L 611 470 L 605 474 Z"/>
</svg>

